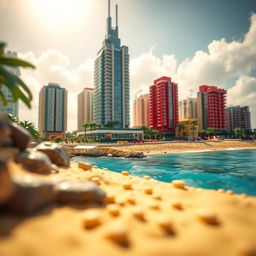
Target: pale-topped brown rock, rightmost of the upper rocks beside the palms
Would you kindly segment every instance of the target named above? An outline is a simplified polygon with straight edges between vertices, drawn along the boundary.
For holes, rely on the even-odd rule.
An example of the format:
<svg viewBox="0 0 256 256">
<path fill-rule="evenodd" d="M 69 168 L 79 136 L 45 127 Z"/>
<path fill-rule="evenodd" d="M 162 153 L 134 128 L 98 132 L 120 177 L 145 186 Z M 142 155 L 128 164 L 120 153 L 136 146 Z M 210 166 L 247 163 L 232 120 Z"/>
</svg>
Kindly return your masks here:
<svg viewBox="0 0 256 256">
<path fill-rule="evenodd" d="M 66 149 L 57 143 L 40 143 L 36 146 L 36 150 L 42 151 L 51 159 L 51 161 L 62 167 L 69 167 L 70 166 L 70 157 L 66 151 Z"/>
</svg>

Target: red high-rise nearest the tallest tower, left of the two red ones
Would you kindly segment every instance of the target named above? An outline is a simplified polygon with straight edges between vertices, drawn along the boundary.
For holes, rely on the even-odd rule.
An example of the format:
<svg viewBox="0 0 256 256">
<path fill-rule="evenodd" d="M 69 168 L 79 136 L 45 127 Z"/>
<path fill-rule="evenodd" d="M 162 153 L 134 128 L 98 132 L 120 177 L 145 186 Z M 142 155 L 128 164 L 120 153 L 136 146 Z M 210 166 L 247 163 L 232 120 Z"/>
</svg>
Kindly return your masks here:
<svg viewBox="0 0 256 256">
<path fill-rule="evenodd" d="M 170 77 L 160 77 L 150 86 L 150 127 L 173 132 L 178 120 L 178 84 Z"/>
</svg>

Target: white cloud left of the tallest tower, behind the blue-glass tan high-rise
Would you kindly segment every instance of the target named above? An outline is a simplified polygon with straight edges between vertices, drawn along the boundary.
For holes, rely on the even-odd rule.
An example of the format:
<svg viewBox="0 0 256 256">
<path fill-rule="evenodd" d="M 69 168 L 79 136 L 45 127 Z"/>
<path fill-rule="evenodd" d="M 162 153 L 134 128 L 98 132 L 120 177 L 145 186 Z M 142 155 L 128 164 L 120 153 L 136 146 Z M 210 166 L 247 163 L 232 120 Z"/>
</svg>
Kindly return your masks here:
<svg viewBox="0 0 256 256">
<path fill-rule="evenodd" d="M 36 70 L 22 69 L 22 78 L 33 93 L 32 109 L 20 103 L 20 119 L 38 123 L 38 97 L 43 85 L 59 83 L 68 91 L 68 130 L 77 127 L 77 95 L 84 87 L 92 87 L 93 60 L 87 60 L 76 69 L 70 67 L 70 60 L 57 50 L 49 50 L 38 58 L 32 53 L 19 54 L 36 66 Z"/>
</svg>

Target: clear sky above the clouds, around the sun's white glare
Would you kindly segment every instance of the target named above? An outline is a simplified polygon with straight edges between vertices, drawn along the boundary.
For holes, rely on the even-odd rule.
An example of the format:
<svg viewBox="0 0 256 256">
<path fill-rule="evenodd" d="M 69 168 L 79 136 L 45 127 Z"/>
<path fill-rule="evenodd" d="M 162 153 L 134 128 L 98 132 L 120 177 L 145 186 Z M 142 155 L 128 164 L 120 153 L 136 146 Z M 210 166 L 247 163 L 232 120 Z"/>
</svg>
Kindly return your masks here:
<svg viewBox="0 0 256 256">
<path fill-rule="evenodd" d="M 42 25 L 37 15 L 32 19 L 31 12 L 37 9 L 28 8 L 27 5 L 33 5 L 31 2 L 9 0 L 0 9 L 1 35 L 10 48 L 19 52 L 33 50 L 40 54 L 56 48 L 77 65 L 85 58 L 95 57 L 105 33 L 107 0 L 91 2 L 93 6 L 87 7 L 91 14 L 85 10 L 72 31 L 66 31 L 63 27 L 52 29 L 47 19 Z M 116 3 L 120 35 L 122 42 L 130 47 L 131 57 L 155 46 L 157 56 L 175 54 L 179 62 L 192 57 L 197 50 L 207 50 L 212 40 L 241 40 L 248 30 L 250 14 L 256 12 L 254 0 L 112 0 L 112 17 Z M 51 9 L 50 4 L 48 8 Z M 58 19 L 58 13 L 54 15 Z M 44 19 L 42 14 L 40 18 Z"/>
</svg>

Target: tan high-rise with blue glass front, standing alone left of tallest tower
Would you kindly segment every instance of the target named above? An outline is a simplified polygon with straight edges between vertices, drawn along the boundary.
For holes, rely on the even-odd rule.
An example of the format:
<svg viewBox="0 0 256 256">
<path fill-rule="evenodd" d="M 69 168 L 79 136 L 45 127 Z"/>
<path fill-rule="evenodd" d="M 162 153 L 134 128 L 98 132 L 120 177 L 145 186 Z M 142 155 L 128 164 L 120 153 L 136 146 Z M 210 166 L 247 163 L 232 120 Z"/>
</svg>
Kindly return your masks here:
<svg viewBox="0 0 256 256">
<path fill-rule="evenodd" d="M 67 91 L 49 83 L 39 93 L 38 128 L 43 137 L 64 137 L 67 130 Z"/>
</svg>

